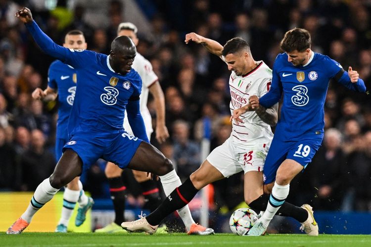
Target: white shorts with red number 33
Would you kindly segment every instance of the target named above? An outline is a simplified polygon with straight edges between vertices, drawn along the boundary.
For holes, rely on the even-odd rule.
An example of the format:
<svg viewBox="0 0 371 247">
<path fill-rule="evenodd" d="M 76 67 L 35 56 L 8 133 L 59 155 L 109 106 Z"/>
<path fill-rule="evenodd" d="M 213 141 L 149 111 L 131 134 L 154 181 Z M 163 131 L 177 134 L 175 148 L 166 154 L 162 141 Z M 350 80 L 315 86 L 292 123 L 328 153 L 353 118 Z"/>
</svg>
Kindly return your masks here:
<svg viewBox="0 0 371 247">
<path fill-rule="evenodd" d="M 232 176 L 240 171 L 263 171 L 264 162 L 268 154 L 270 142 L 236 146 L 232 138 L 228 138 L 222 145 L 215 148 L 206 158 L 211 165 L 217 168 L 224 177 Z"/>
</svg>

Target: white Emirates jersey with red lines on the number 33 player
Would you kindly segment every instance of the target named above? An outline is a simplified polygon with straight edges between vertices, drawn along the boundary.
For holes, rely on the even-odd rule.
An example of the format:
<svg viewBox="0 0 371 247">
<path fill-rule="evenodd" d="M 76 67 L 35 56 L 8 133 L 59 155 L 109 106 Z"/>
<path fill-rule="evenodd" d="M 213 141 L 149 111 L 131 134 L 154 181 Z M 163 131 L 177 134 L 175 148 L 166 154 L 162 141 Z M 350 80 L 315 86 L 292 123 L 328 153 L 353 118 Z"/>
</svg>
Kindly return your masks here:
<svg viewBox="0 0 371 247">
<path fill-rule="evenodd" d="M 244 76 L 236 76 L 232 71 L 230 77 L 231 114 L 233 110 L 248 104 L 252 95 L 258 97 L 266 94 L 271 86 L 272 70 L 263 62 L 258 61 L 255 69 Z M 264 123 L 255 112 L 246 112 L 240 116 L 243 123 L 232 122 L 232 141 L 236 145 L 270 145 L 273 133 L 271 126 Z"/>
</svg>

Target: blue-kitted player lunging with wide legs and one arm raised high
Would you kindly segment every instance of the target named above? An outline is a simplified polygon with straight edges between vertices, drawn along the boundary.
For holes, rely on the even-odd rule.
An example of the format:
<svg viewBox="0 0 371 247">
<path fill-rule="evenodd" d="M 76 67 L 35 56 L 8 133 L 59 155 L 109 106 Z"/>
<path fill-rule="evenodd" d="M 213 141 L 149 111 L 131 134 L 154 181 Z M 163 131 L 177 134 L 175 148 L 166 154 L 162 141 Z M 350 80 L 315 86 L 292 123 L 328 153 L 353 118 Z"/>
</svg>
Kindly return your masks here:
<svg viewBox="0 0 371 247">
<path fill-rule="evenodd" d="M 51 176 L 36 189 L 26 211 L 6 231 L 20 234 L 34 214 L 64 185 L 87 170 L 97 159 L 113 162 L 120 168 L 148 171 L 159 175 L 163 186 L 175 189 L 181 181 L 171 161 L 149 144 L 139 111 L 141 79 L 132 69 L 137 54 L 134 42 L 127 36 L 111 43 L 109 55 L 89 50 L 68 49 L 54 43 L 39 28 L 31 11 L 24 7 L 16 12 L 47 54 L 76 70 L 79 82 L 68 123 L 70 140 Z M 122 124 L 125 110 L 135 136 Z M 157 226 L 149 226 L 154 233 Z"/>
</svg>

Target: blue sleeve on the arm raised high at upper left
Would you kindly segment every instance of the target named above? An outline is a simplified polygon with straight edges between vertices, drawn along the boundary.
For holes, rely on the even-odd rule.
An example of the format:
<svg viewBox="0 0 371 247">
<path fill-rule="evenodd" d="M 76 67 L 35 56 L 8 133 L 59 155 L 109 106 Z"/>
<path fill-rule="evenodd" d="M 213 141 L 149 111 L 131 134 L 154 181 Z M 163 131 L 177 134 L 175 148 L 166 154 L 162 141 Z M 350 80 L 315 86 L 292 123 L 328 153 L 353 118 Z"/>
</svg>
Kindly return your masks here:
<svg viewBox="0 0 371 247">
<path fill-rule="evenodd" d="M 82 52 L 75 52 L 75 50 L 73 49 L 68 49 L 56 44 L 40 29 L 35 21 L 32 21 L 31 23 L 27 23 L 25 25 L 34 38 L 35 42 L 46 54 L 53 56 L 63 61 L 64 63 L 71 65 L 74 68 L 78 68 L 80 64 L 81 66 L 84 66 L 84 59 L 80 55 L 80 53 Z"/>
</svg>

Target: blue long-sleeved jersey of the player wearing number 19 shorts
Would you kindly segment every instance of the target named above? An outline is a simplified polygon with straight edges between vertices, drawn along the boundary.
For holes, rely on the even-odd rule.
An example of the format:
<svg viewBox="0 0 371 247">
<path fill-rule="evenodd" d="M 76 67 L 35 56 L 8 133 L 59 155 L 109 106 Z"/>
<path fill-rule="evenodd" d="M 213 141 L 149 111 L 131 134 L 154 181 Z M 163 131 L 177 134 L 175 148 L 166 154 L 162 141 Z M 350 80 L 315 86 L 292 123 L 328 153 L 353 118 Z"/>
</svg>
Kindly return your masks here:
<svg viewBox="0 0 371 247">
<path fill-rule="evenodd" d="M 329 80 L 346 72 L 343 72 L 339 63 L 320 53 L 314 53 L 312 61 L 306 66 L 295 67 L 287 58 L 286 53 L 278 54 L 273 67 L 271 90 L 261 97 L 260 104 L 270 107 L 279 101 L 283 93 L 275 138 L 294 141 L 318 137 L 322 140 L 325 126 L 324 104 Z M 338 82 L 352 90 L 358 90 L 358 82 Z"/>
</svg>

